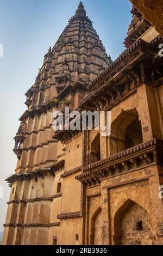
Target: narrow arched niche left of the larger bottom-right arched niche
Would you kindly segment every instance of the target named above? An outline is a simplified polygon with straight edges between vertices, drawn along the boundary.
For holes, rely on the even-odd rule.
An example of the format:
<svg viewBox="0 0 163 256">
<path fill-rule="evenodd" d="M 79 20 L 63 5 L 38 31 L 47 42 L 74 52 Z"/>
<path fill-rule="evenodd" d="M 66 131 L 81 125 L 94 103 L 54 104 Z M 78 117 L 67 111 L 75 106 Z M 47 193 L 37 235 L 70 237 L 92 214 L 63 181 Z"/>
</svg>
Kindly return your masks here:
<svg viewBox="0 0 163 256">
<path fill-rule="evenodd" d="M 102 245 L 101 207 L 95 211 L 91 218 L 90 245 Z"/>
</svg>

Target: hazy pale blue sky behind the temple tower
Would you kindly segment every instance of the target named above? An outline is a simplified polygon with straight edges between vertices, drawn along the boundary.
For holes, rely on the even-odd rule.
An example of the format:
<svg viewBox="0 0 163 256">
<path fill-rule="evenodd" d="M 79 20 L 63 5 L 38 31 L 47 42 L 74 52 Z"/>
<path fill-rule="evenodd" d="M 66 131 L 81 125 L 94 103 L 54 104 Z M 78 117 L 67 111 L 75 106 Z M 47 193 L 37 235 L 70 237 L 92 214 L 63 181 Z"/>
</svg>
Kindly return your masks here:
<svg viewBox="0 0 163 256">
<path fill-rule="evenodd" d="M 12 152 L 18 119 L 26 110 L 24 94 L 33 85 L 49 46 L 74 15 L 79 0 L 0 0 L 1 85 L 1 170 L 0 231 L 3 230 L 10 188 L 4 180 L 14 174 L 16 156 Z M 87 15 L 99 34 L 106 52 L 115 60 L 124 51 L 123 41 L 131 21 L 128 0 L 85 0 Z"/>
</svg>

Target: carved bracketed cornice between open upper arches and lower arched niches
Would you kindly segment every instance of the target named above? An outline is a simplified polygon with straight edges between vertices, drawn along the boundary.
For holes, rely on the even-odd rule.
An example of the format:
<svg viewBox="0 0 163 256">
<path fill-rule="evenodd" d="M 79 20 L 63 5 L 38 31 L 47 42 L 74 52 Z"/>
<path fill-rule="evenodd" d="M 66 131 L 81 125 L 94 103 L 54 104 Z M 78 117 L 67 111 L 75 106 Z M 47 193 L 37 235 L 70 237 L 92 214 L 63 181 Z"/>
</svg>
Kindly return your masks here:
<svg viewBox="0 0 163 256">
<path fill-rule="evenodd" d="M 136 145 L 107 159 L 90 164 L 84 168 L 84 173 L 76 176 L 84 187 L 95 186 L 102 179 L 115 174 L 123 174 L 137 168 L 143 169 L 147 164 L 163 163 L 163 141 L 152 139 L 149 142 Z"/>
</svg>

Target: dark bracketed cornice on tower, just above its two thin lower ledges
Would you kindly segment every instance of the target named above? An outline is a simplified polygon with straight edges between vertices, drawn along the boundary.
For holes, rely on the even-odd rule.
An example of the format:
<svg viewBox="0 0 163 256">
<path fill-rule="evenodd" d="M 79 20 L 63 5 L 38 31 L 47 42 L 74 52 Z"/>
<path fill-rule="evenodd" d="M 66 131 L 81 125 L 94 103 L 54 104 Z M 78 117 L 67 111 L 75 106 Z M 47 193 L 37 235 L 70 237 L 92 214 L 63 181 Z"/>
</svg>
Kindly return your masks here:
<svg viewBox="0 0 163 256">
<path fill-rule="evenodd" d="M 55 176 L 56 172 L 59 172 L 59 170 L 64 169 L 64 166 L 65 166 L 65 160 L 61 160 L 59 162 L 52 164 L 52 166 L 49 166 L 48 168 L 42 168 L 42 169 L 40 168 L 33 172 L 13 174 L 9 178 L 7 178 L 5 181 L 7 181 L 10 184 L 10 186 L 12 183 L 16 181 L 23 181 L 23 180 L 30 181 L 32 179 L 35 179 L 35 181 L 37 181 L 38 178 L 44 178 L 48 174 Z"/>
</svg>

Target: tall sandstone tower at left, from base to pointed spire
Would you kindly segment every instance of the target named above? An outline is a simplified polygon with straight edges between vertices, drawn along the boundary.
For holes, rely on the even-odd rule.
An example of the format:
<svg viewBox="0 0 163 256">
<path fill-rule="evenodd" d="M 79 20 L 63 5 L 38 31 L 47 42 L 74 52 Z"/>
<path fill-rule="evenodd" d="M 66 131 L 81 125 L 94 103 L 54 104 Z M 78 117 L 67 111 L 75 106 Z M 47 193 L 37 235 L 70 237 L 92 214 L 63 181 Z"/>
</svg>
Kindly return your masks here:
<svg viewBox="0 0 163 256">
<path fill-rule="evenodd" d="M 110 63 L 80 2 L 26 93 L 28 110 L 14 138 L 17 167 L 7 179 L 11 196 L 3 244 L 82 244 L 83 191 L 74 176 L 82 171 L 83 142 L 67 148 L 53 138 L 52 114 L 64 106 L 78 109 L 86 86 Z M 73 147 L 78 148 L 77 155 Z M 66 173 L 72 175 L 63 179 Z"/>
</svg>

